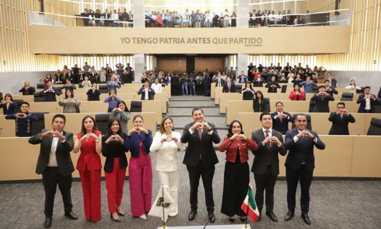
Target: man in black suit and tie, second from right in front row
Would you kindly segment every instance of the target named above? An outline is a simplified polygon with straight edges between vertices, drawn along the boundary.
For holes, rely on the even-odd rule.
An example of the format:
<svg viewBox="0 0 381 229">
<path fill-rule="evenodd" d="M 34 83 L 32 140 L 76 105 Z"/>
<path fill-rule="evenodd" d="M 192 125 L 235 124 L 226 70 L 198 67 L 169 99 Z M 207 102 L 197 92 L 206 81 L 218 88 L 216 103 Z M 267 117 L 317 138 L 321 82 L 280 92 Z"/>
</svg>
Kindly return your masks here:
<svg viewBox="0 0 381 229">
<path fill-rule="evenodd" d="M 273 120 L 269 112 L 264 112 L 259 117 L 262 128 L 252 133 L 253 141 L 258 144 L 258 149 L 252 151 L 255 155 L 252 172 L 255 179 L 255 202 L 258 207 L 259 216 L 257 222 L 261 220 L 263 208 L 263 192 L 266 190 L 266 215 L 274 222 L 278 222 L 274 208 L 274 187 L 276 177 L 279 174 L 278 153 L 282 156 L 287 151 L 283 145 L 282 133 L 272 129 Z"/>
</svg>

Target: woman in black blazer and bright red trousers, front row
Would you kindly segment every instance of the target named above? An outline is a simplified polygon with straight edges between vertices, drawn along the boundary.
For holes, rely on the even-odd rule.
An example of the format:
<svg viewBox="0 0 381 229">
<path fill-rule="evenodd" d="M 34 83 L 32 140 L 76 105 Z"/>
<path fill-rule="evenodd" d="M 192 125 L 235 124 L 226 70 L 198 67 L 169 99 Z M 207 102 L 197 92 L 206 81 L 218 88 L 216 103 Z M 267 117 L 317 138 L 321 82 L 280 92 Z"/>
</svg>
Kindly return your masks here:
<svg viewBox="0 0 381 229">
<path fill-rule="evenodd" d="M 127 168 L 125 138 L 120 120 L 108 120 L 108 133 L 102 137 L 102 155 L 106 157 L 104 170 L 108 211 L 116 222 L 121 222 L 118 215 L 125 216 L 121 208 Z"/>
</svg>

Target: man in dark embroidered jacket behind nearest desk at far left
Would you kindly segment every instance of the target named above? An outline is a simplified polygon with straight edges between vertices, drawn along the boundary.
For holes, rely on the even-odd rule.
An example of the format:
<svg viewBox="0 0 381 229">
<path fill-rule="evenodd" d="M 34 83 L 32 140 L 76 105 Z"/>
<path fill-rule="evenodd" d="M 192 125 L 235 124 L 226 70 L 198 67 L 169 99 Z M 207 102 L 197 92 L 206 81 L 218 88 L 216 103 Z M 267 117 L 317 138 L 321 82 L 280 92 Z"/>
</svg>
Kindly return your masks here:
<svg viewBox="0 0 381 229">
<path fill-rule="evenodd" d="M 28 112 L 29 110 L 28 102 L 22 102 L 20 108 L 21 108 L 21 113 L 6 115 L 5 119 L 15 119 L 16 136 L 18 137 L 33 136 L 33 122 L 37 122 L 39 118 Z"/>
</svg>

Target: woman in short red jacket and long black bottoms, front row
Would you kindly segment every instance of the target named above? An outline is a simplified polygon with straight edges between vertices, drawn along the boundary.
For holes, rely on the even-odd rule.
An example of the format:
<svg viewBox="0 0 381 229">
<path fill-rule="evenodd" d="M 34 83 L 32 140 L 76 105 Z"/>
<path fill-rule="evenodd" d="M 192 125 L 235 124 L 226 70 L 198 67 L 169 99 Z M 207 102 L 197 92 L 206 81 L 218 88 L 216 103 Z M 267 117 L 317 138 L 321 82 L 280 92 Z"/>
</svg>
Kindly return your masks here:
<svg viewBox="0 0 381 229">
<path fill-rule="evenodd" d="M 229 216 L 231 222 L 235 220 L 234 215 L 239 215 L 242 222 L 246 220 L 241 205 L 249 188 L 249 148 L 257 150 L 258 145 L 243 134 L 242 124 L 233 120 L 228 129 L 228 136 L 218 148 L 220 152 L 226 151 L 221 212 Z"/>
</svg>

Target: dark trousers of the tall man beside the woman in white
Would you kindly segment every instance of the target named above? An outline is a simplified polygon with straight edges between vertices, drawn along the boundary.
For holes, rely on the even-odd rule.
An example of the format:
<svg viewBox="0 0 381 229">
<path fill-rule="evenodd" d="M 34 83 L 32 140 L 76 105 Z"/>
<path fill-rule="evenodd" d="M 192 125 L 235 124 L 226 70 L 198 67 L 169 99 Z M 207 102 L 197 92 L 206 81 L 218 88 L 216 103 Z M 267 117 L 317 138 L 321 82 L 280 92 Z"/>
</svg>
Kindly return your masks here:
<svg viewBox="0 0 381 229">
<path fill-rule="evenodd" d="M 213 201 L 213 188 L 212 181 L 214 176 L 214 165 L 204 166 L 202 161 L 198 163 L 196 167 L 187 166 L 189 172 L 189 181 L 191 183 L 191 210 L 197 210 L 197 193 L 198 184 L 200 182 L 200 176 L 202 177 L 202 183 L 205 190 L 205 202 L 208 212 L 214 211 L 214 201 Z"/>
</svg>

